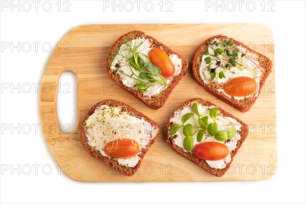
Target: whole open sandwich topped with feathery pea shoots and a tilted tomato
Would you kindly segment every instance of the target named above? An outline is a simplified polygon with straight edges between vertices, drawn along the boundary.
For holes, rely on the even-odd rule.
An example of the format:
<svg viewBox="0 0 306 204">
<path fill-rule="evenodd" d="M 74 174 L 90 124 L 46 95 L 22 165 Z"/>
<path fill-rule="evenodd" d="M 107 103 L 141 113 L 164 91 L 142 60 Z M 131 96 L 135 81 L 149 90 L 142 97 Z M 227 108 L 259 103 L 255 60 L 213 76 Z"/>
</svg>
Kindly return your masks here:
<svg viewBox="0 0 306 204">
<path fill-rule="evenodd" d="M 109 77 L 152 109 L 165 104 L 187 67 L 182 55 L 141 31 L 119 37 L 106 60 Z"/>
</svg>

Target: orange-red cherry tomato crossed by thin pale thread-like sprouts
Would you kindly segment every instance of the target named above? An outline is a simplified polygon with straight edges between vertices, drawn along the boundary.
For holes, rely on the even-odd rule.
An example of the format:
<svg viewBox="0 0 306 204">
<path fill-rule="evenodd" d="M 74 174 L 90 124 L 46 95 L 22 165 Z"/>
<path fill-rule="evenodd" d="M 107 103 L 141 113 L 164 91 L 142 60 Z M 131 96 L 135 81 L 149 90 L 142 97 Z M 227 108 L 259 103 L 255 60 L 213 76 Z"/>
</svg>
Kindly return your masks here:
<svg viewBox="0 0 306 204">
<path fill-rule="evenodd" d="M 129 139 L 110 141 L 104 147 L 105 153 L 112 158 L 127 159 L 137 155 L 139 144 Z"/>
</svg>

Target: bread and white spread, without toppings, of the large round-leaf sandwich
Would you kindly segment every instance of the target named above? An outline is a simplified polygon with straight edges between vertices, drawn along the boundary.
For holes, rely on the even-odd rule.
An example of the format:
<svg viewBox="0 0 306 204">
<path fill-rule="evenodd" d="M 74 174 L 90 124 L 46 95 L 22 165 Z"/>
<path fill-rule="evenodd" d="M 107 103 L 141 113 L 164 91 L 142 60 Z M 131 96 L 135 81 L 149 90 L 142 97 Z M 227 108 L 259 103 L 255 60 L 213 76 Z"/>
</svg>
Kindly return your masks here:
<svg viewBox="0 0 306 204">
<path fill-rule="evenodd" d="M 236 127 L 237 127 L 237 133 L 235 135 L 235 137 L 233 137 L 232 139 L 227 139 L 224 142 L 220 142 L 217 141 L 215 139 L 214 136 L 210 136 L 208 133 L 205 133 L 205 135 L 203 136 L 203 138 L 201 139 L 200 142 L 197 142 L 197 133 L 195 132 L 193 137 L 193 147 L 190 151 L 187 151 L 185 149 L 185 146 L 183 144 L 183 139 L 184 139 L 184 134 L 182 134 L 182 127 L 179 131 L 177 131 L 175 134 L 170 135 L 170 130 L 171 127 L 173 127 L 174 125 L 181 125 L 181 119 L 182 116 L 187 114 L 187 113 L 194 113 L 193 111 L 193 104 L 196 103 L 197 106 L 199 107 L 199 113 L 203 113 L 206 114 L 210 109 L 212 108 L 217 108 L 218 109 L 218 117 L 220 116 L 220 120 L 216 119 L 216 121 L 222 121 L 221 119 L 226 119 L 228 121 L 231 121 L 234 123 L 236 123 Z M 195 118 L 193 118 L 195 117 Z M 208 116 L 210 117 L 210 116 Z M 185 122 L 185 125 L 187 123 L 193 123 L 196 120 L 197 115 L 193 114 L 193 116 L 188 119 Z M 237 126 L 238 125 L 238 126 Z M 222 124 L 223 127 L 223 124 Z M 221 109 L 220 107 L 216 106 L 215 104 L 211 103 L 210 101 L 207 100 L 203 100 L 201 98 L 192 98 L 189 99 L 187 101 L 185 101 L 181 106 L 179 106 L 174 113 L 172 114 L 169 122 L 167 123 L 167 142 L 170 144 L 170 146 L 172 147 L 172 149 L 174 149 L 176 151 L 177 154 L 187 158 L 188 160 L 192 161 L 193 163 L 197 164 L 198 166 L 200 166 L 201 168 L 207 170 L 209 173 L 215 175 L 215 176 L 222 176 L 226 173 L 226 171 L 228 170 L 228 168 L 230 168 L 231 163 L 234 160 L 235 155 L 237 154 L 239 148 L 241 147 L 242 143 L 245 141 L 245 139 L 247 138 L 248 135 L 248 125 L 245 124 L 243 121 L 241 121 L 240 119 L 238 119 L 237 117 L 233 116 L 232 114 L 226 112 L 225 110 Z M 197 128 L 197 127 L 195 127 Z M 194 129 L 196 130 L 196 129 Z M 181 131 L 181 132 L 180 132 Z M 182 138 L 183 137 L 183 138 Z M 226 146 L 228 146 L 229 149 L 229 154 L 227 155 L 227 157 L 221 161 L 206 161 L 203 159 L 200 159 L 198 157 L 195 156 L 194 154 L 194 148 L 197 144 L 203 143 L 203 142 L 220 142 L 225 144 Z M 223 162 L 223 163 L 222 163 Z M 222 167 L 222 168 L 220 168 Z"/>
</svg>

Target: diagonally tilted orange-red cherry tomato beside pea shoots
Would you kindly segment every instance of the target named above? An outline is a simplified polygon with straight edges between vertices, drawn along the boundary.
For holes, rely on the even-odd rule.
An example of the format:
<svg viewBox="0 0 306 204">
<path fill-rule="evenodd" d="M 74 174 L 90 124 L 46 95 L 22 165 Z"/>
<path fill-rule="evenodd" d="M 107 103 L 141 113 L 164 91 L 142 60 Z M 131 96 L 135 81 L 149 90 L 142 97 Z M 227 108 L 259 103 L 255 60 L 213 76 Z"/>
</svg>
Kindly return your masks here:
<svg viewBox="0 0 306 204">
<path fill-rule="evenodd" d="M 165 53 L 163 50 L 156 47 L 151 49 L 148 53 L 148 58 L 150 59 L 152 64 L 158 66 L 161 69 L 161 74 L 164 77 L 173 76 L 175 67 L 167 53 Z"/>
</svg>

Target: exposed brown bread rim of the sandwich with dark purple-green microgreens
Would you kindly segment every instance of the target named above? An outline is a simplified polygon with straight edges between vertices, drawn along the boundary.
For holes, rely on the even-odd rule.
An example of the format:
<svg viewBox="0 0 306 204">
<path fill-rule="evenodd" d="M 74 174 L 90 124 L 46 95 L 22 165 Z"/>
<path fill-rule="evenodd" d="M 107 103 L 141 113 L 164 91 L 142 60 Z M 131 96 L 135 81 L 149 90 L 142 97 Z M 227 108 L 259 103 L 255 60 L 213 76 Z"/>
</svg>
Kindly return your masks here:
<svg viewBox="0 0 306 204">
<path fill-rule="evenodd" d="M 200 73 L 199 73 L 199 69 L 201 66 L 201 62 L 202 62 L 202 56 L 203 56 L 203 52 L 208 48 L 208 46 L 205 44 L 206 42 L 211 44 L 211 41 L 214 40 L 214 38 L 218 38 L 220 39 L 220 41 L 223 41 L 224 39 L 226 40 L 233 40 L 234 44 L 238 45 L 238 46 L 242 46 L 244 48 L 246 48 L 247 51 L 251 52 L 253 55 L 257 55 L 261 58 L 264 59 L 259 59 L 259 66 L 262 67 L 264 69 L 264 73 L 262 73 L 261 78 L 260 78 L 260 87 L 259 87 L 259 92 L 258 95 L 256 97 L 248 97 L 248 98 L 244 98 L 242 100 L 237 100 L 234 97 L 227 97 L 224 93 L 217 91 L 217 89 L 222 88 L 224 84 L 219 84 L 217 82 L 210 82 L 209 84 L 206 84 L 205 82 L 203 82 L 203 80 L 200 77 Z M 197 49 L 195 56 L 193 58 L 193 62 L 192 62 L 192 75 L 193 78 L 195 79 L 195 81 L 199 84 L 204 86 L 204 88 L 212 95 L 216 96 L 217 98 L 223 100 L 225 103 L 233 106 L 234 108 L 238 109 L 241 112 L 246 112 L 248 110 L 250 110 L 252 108 L 252 106 L 254 105 L 256 99 L 258 98 L 261 89 L 268 77 L 268 75 L 271 73 L 272 71 L 272 61 L 267 58 L 266 56 L 256 52 L 255 50 L 252 50 L 250 48 L 248 48 L 247 46 L 245 46 L 244 44 L 242 44 L 241 42 L 233 39 L 233 38 L 229 38 L 226 36 L 222 36 L 222 35 L 216 35 L 213 36 L 207 40 L 205 40 Z M 217 76 L 218 77 L 218 76 Z"/>
</svg>

